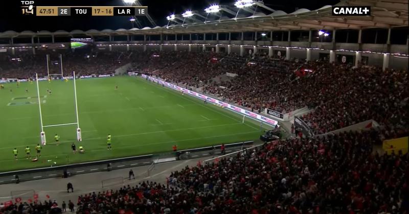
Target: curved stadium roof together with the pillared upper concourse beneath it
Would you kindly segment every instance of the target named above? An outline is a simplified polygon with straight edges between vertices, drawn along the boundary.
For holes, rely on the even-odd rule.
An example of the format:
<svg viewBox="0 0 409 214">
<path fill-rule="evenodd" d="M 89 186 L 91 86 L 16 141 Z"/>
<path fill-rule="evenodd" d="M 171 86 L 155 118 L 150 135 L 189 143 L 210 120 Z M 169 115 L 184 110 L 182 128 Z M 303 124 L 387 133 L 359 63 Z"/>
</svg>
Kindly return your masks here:
<svg viewBox="0 0 409 214">
<path fill-rule="evenodd" d="M 70 38 L 92 37 L 97 51 L 189 50 L 248 55 L 263 51 L 268 56 L 285 56 L 313 61 L 358 62 L 383 69 L 408 67 L 407 1 L 350 1 L 337 6 L 366 5 L 371 16 L 333 16 L 332 6 L 292 13 L 272 10 L 249 17 L 209 18 L 192 15 L 183 22 L 168 18 L 165 26 L 102 31 L 74 30 L 0 33 L 0 52 L 70 48 Z M 200 16 L 197 13 L 197 16 Z M 202 16 L 201 16 L 202 17 Z M 179 16 L 180 18 L 180 16 Z M 182 20 L 180 18 L 180 20 Z M 402 34 L 406 39 L 391 42 Z M 339 35 L 339 36 L 338 36 Z M 402 37 L 402 35 L 400 35 Z"/>
</svg>

